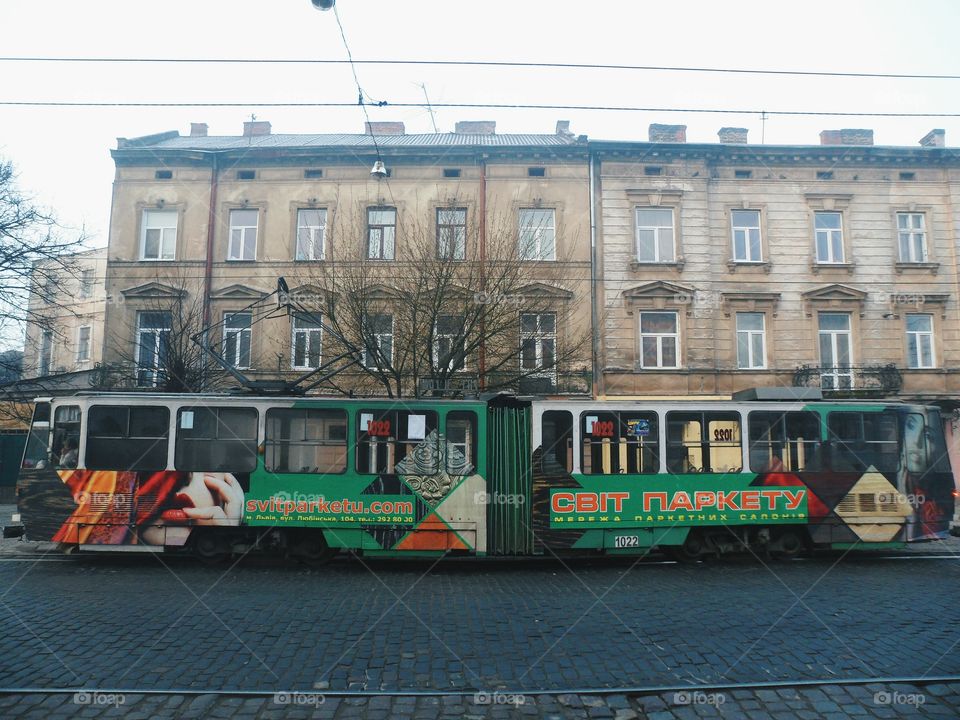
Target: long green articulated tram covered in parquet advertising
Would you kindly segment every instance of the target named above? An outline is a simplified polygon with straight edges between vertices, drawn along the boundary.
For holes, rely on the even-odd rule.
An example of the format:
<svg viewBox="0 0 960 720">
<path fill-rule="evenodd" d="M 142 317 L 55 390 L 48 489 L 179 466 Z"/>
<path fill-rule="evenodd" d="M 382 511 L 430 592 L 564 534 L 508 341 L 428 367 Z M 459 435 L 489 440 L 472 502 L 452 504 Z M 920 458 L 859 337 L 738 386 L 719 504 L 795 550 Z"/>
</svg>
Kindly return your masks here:
<svg viewBox="0 0 960 720">
<path fill-rule="evenodd" d="M 306 562 L 887 548 L 954 494 L 932 407 L 506 395 L 44 399 L 17 487 L 32 540 Z"/>
</svg>

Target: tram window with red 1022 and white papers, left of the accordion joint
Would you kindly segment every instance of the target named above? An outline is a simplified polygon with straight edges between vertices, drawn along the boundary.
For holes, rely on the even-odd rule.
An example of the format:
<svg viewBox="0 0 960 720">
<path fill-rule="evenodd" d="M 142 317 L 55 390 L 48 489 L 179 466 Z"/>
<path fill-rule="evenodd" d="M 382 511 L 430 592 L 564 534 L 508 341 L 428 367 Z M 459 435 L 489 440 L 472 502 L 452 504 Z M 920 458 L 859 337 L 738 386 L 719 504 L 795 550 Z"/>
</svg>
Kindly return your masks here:
<svg viewBox="0 0 960 720">
<path fill-rule="evenodd" d="M 415 410 L 357 413 L 357 472 L 434 475 L 437 414 Z"/>
</svg>

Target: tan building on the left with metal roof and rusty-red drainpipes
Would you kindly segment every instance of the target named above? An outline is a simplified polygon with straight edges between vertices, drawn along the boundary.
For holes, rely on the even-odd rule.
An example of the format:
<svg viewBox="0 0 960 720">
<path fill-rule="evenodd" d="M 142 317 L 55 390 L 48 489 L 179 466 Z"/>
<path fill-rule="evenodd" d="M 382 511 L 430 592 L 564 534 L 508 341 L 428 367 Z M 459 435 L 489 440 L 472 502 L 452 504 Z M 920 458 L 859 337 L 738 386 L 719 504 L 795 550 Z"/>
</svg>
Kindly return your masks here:
<svg viewBox="0 0 960 720">
<path fill-rule="evenodd" d="M 498 134 L 492 122 L 364 130 L 278 135 L 250 121 L 241 136 L 194 124 L 189 136 L 119 141 L 104 360 L 131 369 L 126 384 L 162 386 L 173 336 L 201 328 L 248 378 L 299 376 L 343 350 L 331 328 L 350 335 L 344 318 L 359 298 L 362 358 L 337 377 L 341 390 L 384 391 L 364 385 L 360 364 L 420 380 L 445 364 L 440 374 L 467 387 L 506 378 L 590 392 L 585 138 L 564 123 L 548 135 Z M 310 312 L 261 319 L 249 306 L 281 277 Z M 411 298 L 437 304 L 441 283 L 459 309 L 417 325 Z M 478 305 L 505 308 L 497 317 L 513 316 L 503 321 L 513 337 L 493 333 Z M 421 358 L 410 343 L 423 349 L 424 335 Z"/>
</svg>

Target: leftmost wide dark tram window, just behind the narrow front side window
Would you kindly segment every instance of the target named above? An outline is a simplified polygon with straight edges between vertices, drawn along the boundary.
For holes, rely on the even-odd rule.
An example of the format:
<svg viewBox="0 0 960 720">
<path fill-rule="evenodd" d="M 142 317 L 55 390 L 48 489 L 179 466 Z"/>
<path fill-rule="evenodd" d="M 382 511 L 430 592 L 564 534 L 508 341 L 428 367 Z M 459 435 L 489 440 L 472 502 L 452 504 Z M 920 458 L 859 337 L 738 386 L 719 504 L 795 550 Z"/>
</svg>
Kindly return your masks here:
<svg viewBox="0 0 960 720">
<path fill-rule="evenodd" d="M 90 470 L 163 470 L 169 436 L 165 407 L 94 405 L 87 412 L 84 465 Z"/>
</svg>

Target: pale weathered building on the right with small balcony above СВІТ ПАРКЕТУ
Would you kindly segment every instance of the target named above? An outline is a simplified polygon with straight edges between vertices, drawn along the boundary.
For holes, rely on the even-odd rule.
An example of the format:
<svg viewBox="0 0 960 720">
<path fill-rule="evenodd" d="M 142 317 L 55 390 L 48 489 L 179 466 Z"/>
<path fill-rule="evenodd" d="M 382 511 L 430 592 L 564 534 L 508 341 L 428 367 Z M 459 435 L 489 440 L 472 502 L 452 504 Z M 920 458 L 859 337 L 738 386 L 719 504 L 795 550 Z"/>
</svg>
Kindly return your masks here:
<svg viewBox="0 0 960 720">
<path fill-rule="evenodd" d="M 590 146 L 599 395 L 812 385 L 953 407 L 960 161 L 943 131 L 758 146 L 652 125 Z"/>
</svg>

